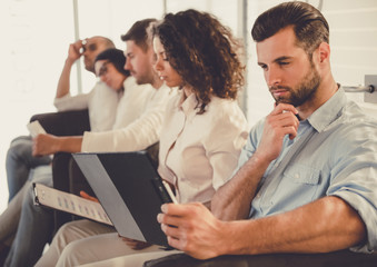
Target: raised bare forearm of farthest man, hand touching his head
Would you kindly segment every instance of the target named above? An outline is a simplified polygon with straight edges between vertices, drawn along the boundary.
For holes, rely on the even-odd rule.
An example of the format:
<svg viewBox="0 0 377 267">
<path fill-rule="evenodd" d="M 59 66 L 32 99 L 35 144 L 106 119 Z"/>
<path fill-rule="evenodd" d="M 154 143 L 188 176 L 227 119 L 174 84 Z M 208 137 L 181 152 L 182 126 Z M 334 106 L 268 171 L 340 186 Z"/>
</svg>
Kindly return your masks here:
<svg viewBox="0 0 377 267">
<path fill-rule="evenodd" d="M 66 59 L 63 69 L 59 78 L 56 98 L 61 98 L 69 92 L 71 68 L 75 61 L 81 57 L 80 53 L 81 47 L 82 47 L 81 40 L 69 46 L 68 57 Z"/>
</svg>

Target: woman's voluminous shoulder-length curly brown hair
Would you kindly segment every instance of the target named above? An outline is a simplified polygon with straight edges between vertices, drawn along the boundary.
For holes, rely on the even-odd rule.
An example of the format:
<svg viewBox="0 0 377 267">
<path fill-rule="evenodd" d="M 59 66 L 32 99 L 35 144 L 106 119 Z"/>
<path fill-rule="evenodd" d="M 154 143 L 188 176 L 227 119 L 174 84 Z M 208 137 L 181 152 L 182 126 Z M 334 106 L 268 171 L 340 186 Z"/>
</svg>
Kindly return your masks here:
<svg viewBox="0 0 377 267">
<path fill-rule="evenodd" d="M 236 99 L 244 86 L 245 66 L 237 50 L 241 44 L 229 28 L 207 12 L 194 9 L 168 13 L 153 27 L 171 67 L 192 87 L 204 113 L 210 96 Z"/>
</svg>

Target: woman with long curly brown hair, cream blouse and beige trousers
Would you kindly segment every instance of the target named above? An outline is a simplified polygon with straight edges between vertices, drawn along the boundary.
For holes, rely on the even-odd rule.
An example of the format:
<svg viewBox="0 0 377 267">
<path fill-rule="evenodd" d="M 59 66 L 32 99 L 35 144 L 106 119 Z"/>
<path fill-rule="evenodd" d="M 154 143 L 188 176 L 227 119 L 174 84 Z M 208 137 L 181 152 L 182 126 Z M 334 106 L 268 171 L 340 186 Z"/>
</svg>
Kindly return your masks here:
<svg viewBox="0 0 377 267">
<path fill-rule="evenodd" d="M 167 14 L 153 26 L 151 40 L 159 78 L 180 88 L 167 106 L 158 172 L 179 202 L 202 202 L 211 209 L 211 198 L 232 176 L 247 138 L 248 126 L 236 99 L 244 82 L 238 46 L 214 16 L 196 10 Z M 133 267 L 177 253 L 102 234 L 70 240 L 51 265 Z"/>
</svg>

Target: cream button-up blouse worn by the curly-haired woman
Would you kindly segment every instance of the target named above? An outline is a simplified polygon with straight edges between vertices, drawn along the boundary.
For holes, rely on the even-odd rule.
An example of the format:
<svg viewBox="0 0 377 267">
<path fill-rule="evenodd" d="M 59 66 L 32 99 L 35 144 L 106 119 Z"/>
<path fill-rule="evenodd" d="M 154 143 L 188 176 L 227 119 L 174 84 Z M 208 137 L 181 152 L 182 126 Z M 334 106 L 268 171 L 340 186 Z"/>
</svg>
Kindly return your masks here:
<svg viewBox="0 0 377 267">
<path fill-rule="evenodd" d="M 180 92 L 167 108 L 160 137 L 159 174 L 176 188 L 179 202 L 209 207 L 212 195 L 232 175 L 248 136 L 236 100 L 211 97 L 198 115 L 195 95 Z"/>
</svg>

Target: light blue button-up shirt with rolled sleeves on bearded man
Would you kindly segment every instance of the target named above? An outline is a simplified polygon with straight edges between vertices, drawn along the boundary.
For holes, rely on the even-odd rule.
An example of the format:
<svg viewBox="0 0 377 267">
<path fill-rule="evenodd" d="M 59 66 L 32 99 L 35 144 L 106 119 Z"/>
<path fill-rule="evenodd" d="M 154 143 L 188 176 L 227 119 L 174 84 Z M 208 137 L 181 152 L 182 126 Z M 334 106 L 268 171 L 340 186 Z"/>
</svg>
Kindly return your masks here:
<svg viewBox="0 0 377 267">
<path fill-rule="evenodd" d="M 264 122 L 251 129 L 237 170 L 257 149 Z M 308 140 L 295 146 L 300 139 Z M 295 150 L 291 158 L 290 149 Z M 290 160 L 282 164 L 286 155 Z M 347 100 L 341 88 L 300 121 L 294 140 L 286 136 L 280 156 L 259 182 L 250 218 L 285 212 L 325 196 L 340 197 L 364 220 L 368 240 L 351 249 L 377 249 L 377 120 Z"/>
</svg>

